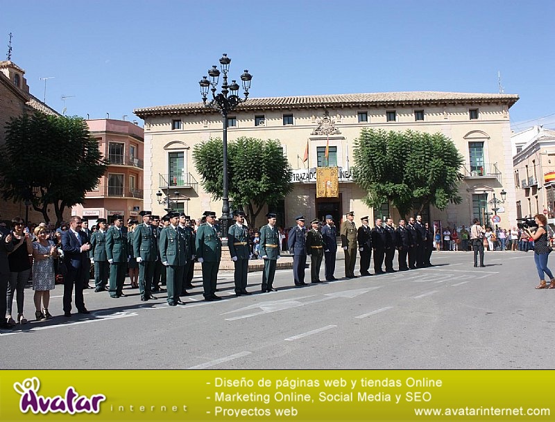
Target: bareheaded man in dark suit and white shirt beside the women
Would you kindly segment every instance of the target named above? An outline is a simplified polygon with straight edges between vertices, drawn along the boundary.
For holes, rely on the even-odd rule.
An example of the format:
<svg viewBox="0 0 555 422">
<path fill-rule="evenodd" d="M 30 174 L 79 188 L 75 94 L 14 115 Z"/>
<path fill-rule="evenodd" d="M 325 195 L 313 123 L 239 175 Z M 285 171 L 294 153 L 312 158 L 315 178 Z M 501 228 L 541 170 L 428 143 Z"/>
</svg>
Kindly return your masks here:
<svg viewBox="0 0 555 422">
<path fill-rule="evenodd" d="M 90 261 L 87 243 L 87 235 L 81 230 L 81 218 L 71 217 L 69 230 L 62 231 L 62 251 L 64 252 L 64 263 L 67 267 L 67 276 L 64 277 L 64 316 L 71 317 L 71 295 L 75 286 L 75 306 L 80 314 L 88 314 L 83 299 L 83 286 L 88 279 Z M 86 272 L 86 274 L 85 274 Z"/>
</svg>

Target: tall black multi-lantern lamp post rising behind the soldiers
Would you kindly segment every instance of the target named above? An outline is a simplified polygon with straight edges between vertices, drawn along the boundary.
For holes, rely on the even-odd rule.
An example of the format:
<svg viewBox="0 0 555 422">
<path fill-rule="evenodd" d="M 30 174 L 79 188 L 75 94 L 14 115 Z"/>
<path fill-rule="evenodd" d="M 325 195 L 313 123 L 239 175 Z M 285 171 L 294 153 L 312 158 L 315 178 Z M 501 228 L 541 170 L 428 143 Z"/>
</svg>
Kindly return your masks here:
<svg viewBox="0 0 555 422">
<path fill-rule="evenodd" d="M 243 103 L 248 98 L 248 90 L 250 89 L 250 80 L 253 78 L 248 70 L 245 70 L 241 75 L 245 98 L 239 98 L 239 84 L 236 80 L 231 81 L 228 85 L 228 71 L 230 69 L 231 59 L 227 54 L 223 54 L 220 59 L 220 69 L 212 66 L 208 71 L 210 80 L 203 76 L 198 82 L 200 85 L 200 94 L 203 98 L 205 107 L 210 107 L 218 110 L 223 117 L 223 195 L 222 195 L 222 208 L 221 208 L 221 230 L 224 236 L 228 234 L 228 226 L 231 219 L 230 216 L 230 202 L 229 202 L 229 178 L 228 178 L 228 114 Z M 223 74 L 223 82 L 221 84 L 221 92 L 216 94 L 219 77 Z M 210 88 L 212 87 L 212 88 Z M 212 100 L 208 100 L 208 90 L 212 91 Z M 230 95 L 228 95 L 230 94 Z"/>
</svg>

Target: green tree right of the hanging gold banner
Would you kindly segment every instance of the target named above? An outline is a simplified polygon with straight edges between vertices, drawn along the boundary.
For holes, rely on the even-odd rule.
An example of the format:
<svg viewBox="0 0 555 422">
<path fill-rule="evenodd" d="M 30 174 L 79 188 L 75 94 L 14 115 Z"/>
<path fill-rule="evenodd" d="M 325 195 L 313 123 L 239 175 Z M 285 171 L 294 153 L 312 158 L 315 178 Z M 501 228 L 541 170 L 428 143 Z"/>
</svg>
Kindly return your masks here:
<svg viewBox="0 0 555 422">
<path fill-rule="evenodd" d="M 364 202 L 378 207 L 385 201 L 407 216 L 415 204 L 445 209 L 460 204 L 459 169 L 463 157 L 441 133 L 386 132 L 364 128 L 354 145 L 355 182 L 368 195 Z"/>
</svg>

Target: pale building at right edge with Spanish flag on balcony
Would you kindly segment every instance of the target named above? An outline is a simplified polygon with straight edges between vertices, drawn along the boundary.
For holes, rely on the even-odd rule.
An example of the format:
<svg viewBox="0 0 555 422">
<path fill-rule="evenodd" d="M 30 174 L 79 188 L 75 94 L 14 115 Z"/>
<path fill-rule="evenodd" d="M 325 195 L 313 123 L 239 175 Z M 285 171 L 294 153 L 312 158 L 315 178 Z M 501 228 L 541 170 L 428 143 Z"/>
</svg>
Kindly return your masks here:
<svg viewBox="0 0 555 422">
<path fill-rule="evenodd" d="M 512 137 L 518 218 L 543 213 L 555 224 L 555 130 L 540 126 Z"/>
</svg>

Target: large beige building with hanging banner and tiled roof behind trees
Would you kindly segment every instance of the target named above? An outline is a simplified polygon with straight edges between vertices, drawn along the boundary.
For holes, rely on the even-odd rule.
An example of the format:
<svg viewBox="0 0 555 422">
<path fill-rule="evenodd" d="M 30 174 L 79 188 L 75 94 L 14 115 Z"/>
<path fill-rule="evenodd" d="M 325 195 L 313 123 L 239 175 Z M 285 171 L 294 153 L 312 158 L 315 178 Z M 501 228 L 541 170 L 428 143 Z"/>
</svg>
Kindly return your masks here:
<svg viewBox="0 0 555 422">
<path fill-rule="evenodd" d="M 445 211 L 429 209 L 425 218 L 450 226 L 468 225 L 474 217 L 489 219 L 484 192 L 500 197 L 504 189 L 507 200 L 499 210 L 504 226 L 516 218 L 509 108 L 517 100 L 511 94 L 428 91 L 249 98 L 228 116 L 228 141 L 242 136 L 280 141 L 294 169 L 294 188 L 284 201 L 269 208 L 278 213 L 278 225 L 291 226 L 300 214 L 323 218 L 330 213 L 340 220 L 346 212 L 355 211 L 358 217 L 397 218 L 388 204 L 371 210 L 361 201 L 365 192 L 352 182 L 350 172 L 353 141 L 361 128 L 441 132 L 465 157 L 460 185 L 463 203 Z M 207 209 L 220 213 L 221 202 L 203 191 L 192 160 L 196 143 L 222 137 L 220 114 L 203 103 L 145 107 L 135 114 L 145 122 L 145 207 L 164 213 L 167 205 L 159 204 L 156 195 L 162 191 L 164 197 L 169 193 L 174 208 L 191 216 L 199 217 Z M 317 199 L 315 169 L 327 165 L 340 168 L 339 197 Z M 262 225 L 262 220 L 257 223 Z"/>
</svg>

